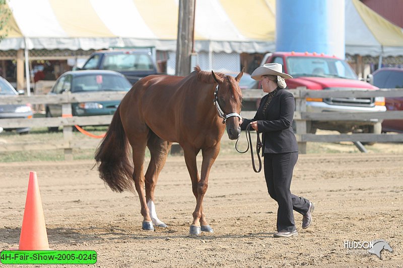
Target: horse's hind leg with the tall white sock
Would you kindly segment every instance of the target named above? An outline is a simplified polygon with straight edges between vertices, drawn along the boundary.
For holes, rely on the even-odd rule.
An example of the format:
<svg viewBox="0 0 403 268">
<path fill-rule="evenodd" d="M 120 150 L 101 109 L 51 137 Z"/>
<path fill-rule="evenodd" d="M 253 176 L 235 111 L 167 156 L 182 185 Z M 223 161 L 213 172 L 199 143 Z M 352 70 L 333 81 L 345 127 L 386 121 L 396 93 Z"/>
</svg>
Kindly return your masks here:
<svg viewBox="0 0 403 268">
<path fill-rule="evenodd" d="M 150 149 L 151 159 L 146 172 L 146 200 L 153 224 L 158 227 L 168 227 L 160 221 L 157 216 L 154 204 L 154 190 L 157 185 L 158 176 L 165 165 L 169 149 L 172 143 L 162 140 L 160 137 L 151 133 L 147 146 Z"/>
</svg>

